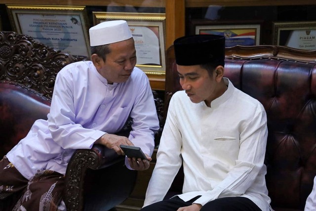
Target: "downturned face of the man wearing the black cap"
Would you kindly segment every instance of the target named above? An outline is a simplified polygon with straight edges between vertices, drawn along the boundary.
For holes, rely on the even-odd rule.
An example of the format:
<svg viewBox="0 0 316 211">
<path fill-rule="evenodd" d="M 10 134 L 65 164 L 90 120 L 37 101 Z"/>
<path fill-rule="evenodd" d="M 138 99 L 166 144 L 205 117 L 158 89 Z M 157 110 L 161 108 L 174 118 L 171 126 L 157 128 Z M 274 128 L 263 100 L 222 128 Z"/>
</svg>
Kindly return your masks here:
<svg viewBox="0 0 316 211">
<path fill-rule="evenodd" d="M 193 103 L 204 101 L 207 106 L 210 106 L 210 102 L 223 93 L 220 86 L 222 74 L 218 74 L 218 68 L 223 67 L 218 66 L 210 76 L 200 65 L 177 65 L 180 84 Z"/>
</svg>

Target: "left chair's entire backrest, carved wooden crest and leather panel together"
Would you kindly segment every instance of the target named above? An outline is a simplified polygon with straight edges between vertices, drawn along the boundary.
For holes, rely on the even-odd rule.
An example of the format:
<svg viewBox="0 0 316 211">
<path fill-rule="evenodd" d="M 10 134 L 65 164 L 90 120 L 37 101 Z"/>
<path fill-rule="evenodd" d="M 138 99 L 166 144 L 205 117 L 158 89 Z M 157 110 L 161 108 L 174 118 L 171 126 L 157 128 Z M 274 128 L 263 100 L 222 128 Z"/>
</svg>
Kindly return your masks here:
<svg viewBox="0 0 316 211">
<path fill-rule="evenodd" d="M 15 32 L 0 32 L 0 159 L 46 119 L 56 74 L 79 59 Z"/>
</svg>

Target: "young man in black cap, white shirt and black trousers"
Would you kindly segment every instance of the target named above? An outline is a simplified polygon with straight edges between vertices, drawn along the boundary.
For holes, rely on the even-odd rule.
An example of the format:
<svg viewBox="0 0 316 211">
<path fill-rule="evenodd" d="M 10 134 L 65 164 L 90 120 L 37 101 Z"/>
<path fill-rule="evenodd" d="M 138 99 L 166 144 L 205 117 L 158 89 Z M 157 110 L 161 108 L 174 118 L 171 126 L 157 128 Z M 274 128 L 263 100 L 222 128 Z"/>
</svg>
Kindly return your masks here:
<svg viewBox="0 0 316 211">
<path fill-rule="evenodd" d="M 268 211 L 262 104 L 223 78 L 225 38 L 174 42 L 183 91 L 170 101 L 142 211 Z M 181 165 L 183 194 L 163 200 Z"/>
</svg>

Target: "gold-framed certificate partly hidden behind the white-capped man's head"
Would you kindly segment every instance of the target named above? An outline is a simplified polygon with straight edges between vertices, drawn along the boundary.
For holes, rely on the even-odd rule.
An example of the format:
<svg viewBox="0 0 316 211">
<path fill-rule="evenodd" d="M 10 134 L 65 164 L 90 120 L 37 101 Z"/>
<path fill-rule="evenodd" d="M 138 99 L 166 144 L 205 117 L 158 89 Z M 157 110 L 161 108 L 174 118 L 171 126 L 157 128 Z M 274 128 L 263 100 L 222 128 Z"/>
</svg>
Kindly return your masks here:
<svg viewBox="0 0 316 211">
<path fill-rule="evenodd" d="M 164 89 L 165 14 L 121 12 L 92 12 L 92 14 L 94 25 L 110 20 L 127 22 L 135 40 L 136 67 L 146 73 L 152 88 Z"/>
</svg>

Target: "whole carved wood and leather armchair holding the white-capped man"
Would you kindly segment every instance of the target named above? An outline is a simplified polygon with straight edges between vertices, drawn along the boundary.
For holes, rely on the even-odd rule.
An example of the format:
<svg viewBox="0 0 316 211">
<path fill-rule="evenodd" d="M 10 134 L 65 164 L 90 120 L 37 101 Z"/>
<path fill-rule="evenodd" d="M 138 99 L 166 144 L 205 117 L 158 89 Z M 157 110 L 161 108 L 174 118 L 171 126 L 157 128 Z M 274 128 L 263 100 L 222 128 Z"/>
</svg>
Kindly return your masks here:
<svg viewBox="0 0 316 211">
<path fill-rule="evenodd" d="M 26 35 L 0 32 L 0 159 L 37 119 L 47 118 L 56 74 L 79 60 Z M 153 93 L 162 123 L 163 102 Z M 130 126 L 127 121 L 118 134 L 128 135 Z M 97 144 L 75 152 L 66 172 L 67 211 L 107 210 L 129 196 L 137 171 L 121 168 L 124 157 L 112 155 L 116 153 Z"/>
</svg>

